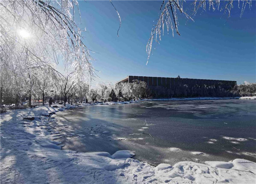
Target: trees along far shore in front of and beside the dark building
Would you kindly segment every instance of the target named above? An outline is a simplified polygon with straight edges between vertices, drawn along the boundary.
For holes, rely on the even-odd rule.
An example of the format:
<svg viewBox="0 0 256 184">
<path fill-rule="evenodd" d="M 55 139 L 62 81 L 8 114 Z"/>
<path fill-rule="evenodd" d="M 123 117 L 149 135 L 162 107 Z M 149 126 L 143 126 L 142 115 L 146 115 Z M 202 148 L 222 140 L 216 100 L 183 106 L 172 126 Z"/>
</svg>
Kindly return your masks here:
<svg viewBox="0 0 256 184">
<path fill-rule="evenodd" d="M 99 83 L 96 88 L 88 93 L 90 100 L 106 101 L 126 101 L 140 98 L 172 98 L 172 97 L 237 97 L 242 95 L 254 95 L 256 93 L 256 83 L 229 86 L 218 83 L 212 86 L 199 85 L 179 85 L 168 89 L 164 86 L 147 86 L 145 82 L 133 80 L 132 83 L 119 83 L 115 86 Z"/>
</svg>

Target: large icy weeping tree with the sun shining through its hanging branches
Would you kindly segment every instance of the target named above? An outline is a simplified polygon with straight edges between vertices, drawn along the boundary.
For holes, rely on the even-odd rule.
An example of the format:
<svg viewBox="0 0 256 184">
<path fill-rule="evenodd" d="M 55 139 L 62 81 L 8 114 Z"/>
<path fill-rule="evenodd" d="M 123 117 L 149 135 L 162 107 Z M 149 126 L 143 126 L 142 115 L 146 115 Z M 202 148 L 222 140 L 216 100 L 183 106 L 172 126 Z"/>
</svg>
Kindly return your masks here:
<svg viewBox="0 0 256 184">
<path fill-rule="evenodd" d="M 57 72 L 56 65 L 62 64 L 62 75 L 72 73 L 74 83 L 94 77 L 93 58 L 74 21 L 76 6 L 77 0 L 0 2 L 0 62 L 9 78 L 15 78 L 10 80 L 15 82 L 13 89 L 29 94 L 29 104 L 31 96 L 38 92 L 34 88 L 45 88 L 38 82 L 40 69 Z"/>
</svg>

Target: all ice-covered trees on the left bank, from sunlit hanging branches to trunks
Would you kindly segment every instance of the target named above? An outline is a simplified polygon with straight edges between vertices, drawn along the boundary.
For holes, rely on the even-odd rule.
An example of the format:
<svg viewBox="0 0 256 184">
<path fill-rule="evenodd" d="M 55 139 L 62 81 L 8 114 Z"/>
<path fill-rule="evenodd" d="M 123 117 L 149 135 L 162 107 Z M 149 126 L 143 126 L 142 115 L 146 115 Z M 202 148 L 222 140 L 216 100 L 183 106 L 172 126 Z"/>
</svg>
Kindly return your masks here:
<svg viewBox="0 0 256 184">
<path fill-rule="evenodd" d="M 0 103 L 41 100 L 50 94 L 84 96 L 94 77 L 90 50 L 75 23 L 77 0 L 0 3 Z M 0 104 L 0 105 L 1 105 Z"/>
</svg>

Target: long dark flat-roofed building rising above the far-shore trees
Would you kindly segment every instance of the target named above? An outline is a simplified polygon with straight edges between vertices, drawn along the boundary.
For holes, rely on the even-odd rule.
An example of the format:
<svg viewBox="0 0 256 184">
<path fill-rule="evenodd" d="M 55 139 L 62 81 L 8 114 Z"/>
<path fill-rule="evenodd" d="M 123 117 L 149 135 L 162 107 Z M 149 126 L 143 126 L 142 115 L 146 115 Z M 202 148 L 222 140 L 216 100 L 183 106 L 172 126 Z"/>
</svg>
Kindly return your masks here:
<svg viewBox="0 0 256 184">
<path fill-rule="evenodd" d="M 236 81 L 233 80 L 209 80 L 209 79 L 191 79 L 191 78 L 165 78 L 165 77 L 145 77 L 145 76 L 133 76 L 129 75 L 126 78 L 118 81 L 117 83 L 127 82 L 132 83 L 133 80 L 145 81 L 148 86 L 164 86 L 168 89 L 175 89 L 176 86 L 188 85 L 188 86 L 213 86 L 222 83 L 226 86 L 234 87 Z"/>
</svg>

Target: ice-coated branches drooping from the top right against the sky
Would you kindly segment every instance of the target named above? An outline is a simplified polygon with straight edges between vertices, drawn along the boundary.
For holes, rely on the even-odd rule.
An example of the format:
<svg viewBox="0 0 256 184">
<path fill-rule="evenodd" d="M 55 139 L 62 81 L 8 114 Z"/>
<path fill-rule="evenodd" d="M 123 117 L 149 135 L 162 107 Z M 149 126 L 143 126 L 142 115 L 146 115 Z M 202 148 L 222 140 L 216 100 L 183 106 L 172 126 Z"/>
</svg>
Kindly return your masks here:
<svg viewBox="0 0 256 184">
<path fill-rule="evenodd" d="M 222 11 L 223 14 L 227 14 L 227 17 L 229 18 L 231 15 L 231 10 L 233 9 L 233 3 L 236 2 L 235 0 L 194 0 L 188 9 L 184 10 L 183 5 L 186 3 L 185 0 L 163 0 L 163 3 L 160 7 L 160 16 L 157 20 L 157 23 L 153 26 L 151 31 L 151 36 L 148 39 L 148 43 L 146 46 L 146 52 L 148 54 L 148 60 L 150 58 L 150 55 L 152 54 L 152 46 L 153 42 L 159 43 L 161 40 L 161 35 L 164 34 L 164 29 L 166 26 L 167 33 L 169 33 L 169 30 L 172 30 L 172 36 L 174 36 L 174 30 L 177 35 L 180 35 L 180 32 L 178 31 L 178 13 L 184 14 L 185 17 L 188 20 L 193 20 L 192 17 L 194 17 L 199 9 L 203 9 L 204 11 L 207 11 L 207 7 L 209 10 L 212 9 L 212 11 L 218 10 Z M 242 16 L 245 8 L 248 6 L 249 8 L 252 6 L 252 0 L 238 0 L 238 7 L 241 8 L 241 14 Z M 188 13 L 189 12 L 189 13 Z M 190 14 L 190 15 L 189 15 Z"/>
</svg>

